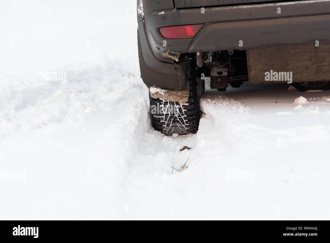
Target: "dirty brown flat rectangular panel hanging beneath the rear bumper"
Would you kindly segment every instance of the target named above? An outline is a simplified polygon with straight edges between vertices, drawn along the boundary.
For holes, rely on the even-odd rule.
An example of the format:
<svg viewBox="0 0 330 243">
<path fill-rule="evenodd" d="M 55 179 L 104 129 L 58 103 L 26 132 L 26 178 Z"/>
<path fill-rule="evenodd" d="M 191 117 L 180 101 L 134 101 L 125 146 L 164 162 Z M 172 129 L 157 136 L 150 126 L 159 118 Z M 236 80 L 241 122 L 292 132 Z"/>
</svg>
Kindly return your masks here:
<svg viewBox="0 0 330 243">
<path fill-rule="evenodd" d="M 287 75 L 292 75 L 293 83 L 330 80 L 330 41 L 316 44 L 308 41 L 247 50 L 249 84 L 287 83 Z"/>
</svg>

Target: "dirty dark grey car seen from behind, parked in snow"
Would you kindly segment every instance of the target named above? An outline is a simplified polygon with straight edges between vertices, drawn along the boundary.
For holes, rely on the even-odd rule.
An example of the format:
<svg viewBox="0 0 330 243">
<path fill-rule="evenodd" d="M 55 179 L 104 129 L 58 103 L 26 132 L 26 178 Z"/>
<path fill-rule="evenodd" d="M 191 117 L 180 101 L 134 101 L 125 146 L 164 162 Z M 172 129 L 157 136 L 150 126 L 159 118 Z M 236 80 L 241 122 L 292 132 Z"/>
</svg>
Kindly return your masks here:
<svg viewBox="0 0 330 243">
<path fill-rule="evenodd" d="M 198 130 L 210 88 L 330 88 L 330 0 L 138 0 L 141 78 L 153 127 Z"/>
</svg>

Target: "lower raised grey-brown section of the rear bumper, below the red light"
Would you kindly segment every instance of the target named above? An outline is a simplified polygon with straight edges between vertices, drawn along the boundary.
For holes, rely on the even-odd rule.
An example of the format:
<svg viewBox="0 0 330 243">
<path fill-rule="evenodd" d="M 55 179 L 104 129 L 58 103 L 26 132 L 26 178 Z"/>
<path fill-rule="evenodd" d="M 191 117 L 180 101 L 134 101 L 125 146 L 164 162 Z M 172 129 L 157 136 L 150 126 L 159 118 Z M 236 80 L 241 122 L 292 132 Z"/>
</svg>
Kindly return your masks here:
<svg viewBox="0 0 330 243">
<path fill-rule="evenodd" d="M 221 43 L 214 45 L 212 39 L 206 38 L 211 32 L 222 39 Z M 300 43 L 311 39 L 330 40 L 330 15 L 210 24 L 195 38 L 189 47 L 189 52 L 250 50 L 274 44 Z M 239 46 L 240 40 L 243 41 L 243 47 Z"/>
</svg>

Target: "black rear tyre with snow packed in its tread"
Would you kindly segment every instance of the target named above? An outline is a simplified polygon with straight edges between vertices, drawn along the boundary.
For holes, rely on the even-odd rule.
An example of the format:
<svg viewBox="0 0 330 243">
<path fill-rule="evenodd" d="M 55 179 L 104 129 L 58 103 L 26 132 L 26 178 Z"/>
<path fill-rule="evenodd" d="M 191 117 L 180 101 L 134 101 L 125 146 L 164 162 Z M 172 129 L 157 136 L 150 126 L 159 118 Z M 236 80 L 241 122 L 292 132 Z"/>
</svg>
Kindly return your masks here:
<svg viewBox="0 0 330 243">
<path fill-rule="evenodd" d="M 199 82 L 197 85 L 196 54 L 189 54 L 188 60 L 189 97 L 184 105 L 181 105 L 178 101 L 155 99 L 149 94 L 152 125 L 157 131 L 166 135 L 172 135 L 173 133 L 184 135 L 196 133 L 198 130 L 201 115 L 198 93 L 201 93 L 200 90 L 204 89 L 204 82 Z M 157 109 L 151 107 L 157 107 Z"/>
</svg>

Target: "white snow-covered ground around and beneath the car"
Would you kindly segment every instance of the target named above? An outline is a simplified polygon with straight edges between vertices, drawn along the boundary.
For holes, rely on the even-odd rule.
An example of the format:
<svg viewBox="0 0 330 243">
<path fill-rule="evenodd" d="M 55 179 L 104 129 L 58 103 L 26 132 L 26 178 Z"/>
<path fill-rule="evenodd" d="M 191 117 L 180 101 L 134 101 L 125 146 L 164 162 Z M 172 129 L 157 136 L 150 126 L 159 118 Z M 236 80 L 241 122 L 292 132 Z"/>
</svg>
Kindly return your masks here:
<svg viewBox="0 0 330 243">
<path fill-rule="evenodd" d="M 330 218 L 330 91 L 208 89 L 198 133 L 166 137 L 135 0 L 5 0 L 0 22 L 0 219 Z"/>
</svg>

